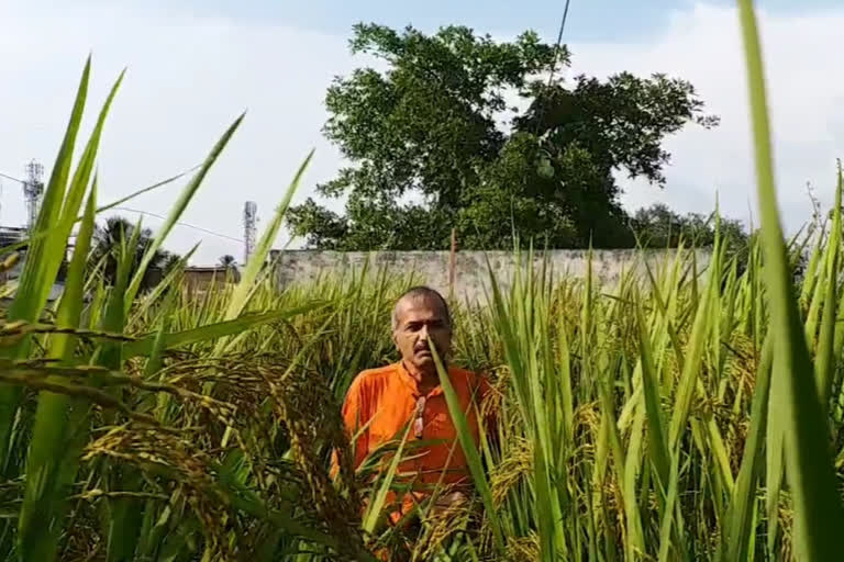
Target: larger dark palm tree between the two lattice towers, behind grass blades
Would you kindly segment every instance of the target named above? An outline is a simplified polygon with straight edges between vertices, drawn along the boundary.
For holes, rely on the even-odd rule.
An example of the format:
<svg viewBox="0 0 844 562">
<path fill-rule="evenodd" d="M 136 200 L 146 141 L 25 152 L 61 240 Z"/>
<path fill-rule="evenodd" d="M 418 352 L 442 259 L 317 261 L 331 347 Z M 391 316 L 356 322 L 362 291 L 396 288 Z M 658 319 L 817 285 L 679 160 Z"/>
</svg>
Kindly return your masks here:
<svg viewBox="0 0 844 562">
<path fill-rule="evenodd" d="M 106 263 L 102 269 L 102 274 L 106 284 L 114 284 L 118 274 L 118 254 L 121 240 L 129 240 L 132 238 L 135 228 L 136 226 L 134 224 L 122 216 L 111 216 L 106 220 L 104 225 L 97 225 L 95 228 L 90 262 L 97 265 L 101 260 L 104 260 Z M 152 243 L 152 231 L 149 228 L 142 229 L 141 233 L 138 233 L 136 246 L 130 249 L 130 251 L 133 252 L 130 279 L 134 276 L 135 271 L 137 271 L 141 260 Z M 170 261 L 171 258 L 173 255 L 165 250 L 158 249 L 155 251 L 141 282 L 142 291 L 149 289 L 155 280 L 160 278 L 159 274 L 156 274 L 156 270 L 160 271 L 165 262 Z"/>
</svg>

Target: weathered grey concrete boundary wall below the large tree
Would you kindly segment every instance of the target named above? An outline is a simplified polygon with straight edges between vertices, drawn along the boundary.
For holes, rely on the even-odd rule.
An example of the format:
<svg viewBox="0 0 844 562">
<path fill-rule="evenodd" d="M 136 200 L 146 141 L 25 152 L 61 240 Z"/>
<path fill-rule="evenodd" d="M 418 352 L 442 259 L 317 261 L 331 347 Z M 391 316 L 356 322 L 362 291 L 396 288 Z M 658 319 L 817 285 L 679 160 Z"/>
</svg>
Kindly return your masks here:
<svg viewBox="0 0 844 562">
<path fill-rule="evenodd" d="M 584 278 L 588 265 L 586 250 L 549 250 L 547 256 L 554 276 Z M 489 288 L 489 272 L 486 257 L 497 274 L 498 281 L 507 286 L 517 267 L 517 257 L 511 251 L 458 251 L 455 254 L 454 295 L 460 300 L 482 301 L 485 288 Z M 342 252 L 321 250 L 273 251 L 276 281 L 280 288 L 292 284 L 308 284 L 318 278 L 332 274 L 347 274 L 359 271 L 368 261 L 370 270 L 386 268 L 388 272 L 404 274 L 413 272 L 420 282 L 448 294 L 449 258 L 448 251 L 373 251 Z M 643 258 L 652 268 L 667 260 L 674 260 L 675 251 L 669 250 L 595 250 L 592 254 L 592 273 L 597 282 L 614 285 L 622 271 L 632 268 L 644 273 Z M 690 258 L 690 254 L 688 254 Z M 541 266 L 545 256 L 534 255 L 534 262 Z M 526 252 L 522 255 L 526 260 Z M 709 262 L 709 252 L 698 250 L 698 271 L 703 271 Z"/>
</svg>

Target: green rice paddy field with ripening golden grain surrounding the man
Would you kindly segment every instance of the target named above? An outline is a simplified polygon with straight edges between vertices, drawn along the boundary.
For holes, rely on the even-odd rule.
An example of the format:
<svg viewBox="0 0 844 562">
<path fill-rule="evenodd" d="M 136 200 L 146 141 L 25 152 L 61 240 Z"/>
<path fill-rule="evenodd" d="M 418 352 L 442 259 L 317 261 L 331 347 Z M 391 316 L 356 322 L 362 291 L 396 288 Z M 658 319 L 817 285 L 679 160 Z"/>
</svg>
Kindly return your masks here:
<svg viewBox="0 0 844 562">
<path fill-rule="evenodd" d="M 98 213 L 120 203 L 99 201 L 95 173 L 120 80 L 82 142 L 87 65 L 23 272 L 0 288 L 0 558 L 840 560 L 842 178 L 828 220 L 786 239 L 752 3 L 738 4 L 760 229 L 738 251 L 717 237 L 706 267 L 687 240 L 613 285 L 524 256 L 512 279 L 490 272 L 486 302 L 452 303 L 452 360 L 489 373 L 481 409 L 498 422 L 479 447 L 459 436 L 469 505 L 434 518 L 421 503 L 412 536 L 384 522 L 411 443 L 353 471 L 340 404 L 356 373 L 397 359 L 390 310 L 415 280 L 358 271 L 275 288 L 263 262 L 306 161 L 240 283 L 188 292 L 176 268 L 142 291 L 148 261 L 133 266 L 125 240 L 107 286 L 89 250 Z M 71 233 L 65 292 L 48 303 Z M 0 250 L 3 269 L 20 249 Z"/>
</svg>

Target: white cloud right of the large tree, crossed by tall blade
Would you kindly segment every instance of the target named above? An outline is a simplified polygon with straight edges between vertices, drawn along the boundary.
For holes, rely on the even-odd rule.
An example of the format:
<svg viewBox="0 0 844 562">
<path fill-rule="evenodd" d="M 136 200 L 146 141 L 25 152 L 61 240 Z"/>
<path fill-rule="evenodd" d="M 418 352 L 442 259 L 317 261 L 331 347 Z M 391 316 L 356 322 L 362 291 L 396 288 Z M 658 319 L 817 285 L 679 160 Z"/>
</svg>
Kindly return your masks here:
<svg viewBox="0 0 844 562">
<path fill-rule="evenodd" d="M 844 9 L 802 16 L 760 14 L 780 207 L 789 229 L 810 215 L 806 184 L 829 206 L 835 158 L 844 156 L 844 75 L 830 65 Z M 635 207 L 664 201 L 680 211 L 710 212 L 715 193 L 724 214 L 746 218 L 755 209 L 753 146 L 744 54 L 733 9 L 699 4 L 678 11 L 664 33 L 632 45 L 573 45 L 578 72 L 604 76 L 620 70 L 663 71 L 690 80 L 721 116 L 712 131 L 689 127 L 669 138 L 668 184 L 660 191 L 625 182 L 625 203 Z"/>
</svg>

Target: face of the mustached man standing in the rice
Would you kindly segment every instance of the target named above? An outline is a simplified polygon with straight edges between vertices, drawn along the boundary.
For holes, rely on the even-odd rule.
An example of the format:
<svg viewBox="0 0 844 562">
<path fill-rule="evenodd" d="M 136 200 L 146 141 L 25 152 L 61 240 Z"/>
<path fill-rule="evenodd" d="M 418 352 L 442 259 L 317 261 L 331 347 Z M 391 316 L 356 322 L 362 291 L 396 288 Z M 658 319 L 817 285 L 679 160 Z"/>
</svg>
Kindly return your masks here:
<svg viewBox="0 0 844 562">
<path fill-rule="evenodd" d="M 432 297 L 407 297 L 398 303 L 396 313 L 392 337 L 404 364 L 423 371 L 435 369 L 429 340 L 442 359 L 452 347 L 452 328 L 441 303 Z"/>
</svg>

